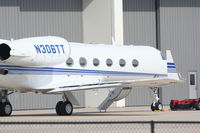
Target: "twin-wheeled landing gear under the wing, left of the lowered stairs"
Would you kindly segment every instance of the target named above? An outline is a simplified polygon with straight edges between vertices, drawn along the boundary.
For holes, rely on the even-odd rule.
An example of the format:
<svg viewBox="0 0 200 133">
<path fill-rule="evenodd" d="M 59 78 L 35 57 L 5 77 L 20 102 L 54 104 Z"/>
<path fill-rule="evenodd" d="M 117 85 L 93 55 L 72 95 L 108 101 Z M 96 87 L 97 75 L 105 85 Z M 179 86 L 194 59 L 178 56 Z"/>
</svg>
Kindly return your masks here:
<svg viewBox="0 0 200 133">
<path fill-rule="evenodd" d="M 71 115 L 73 112 L 73 105 L 67 97 L 63 97 L 63 101 L 56 104 L 57 115 Z"/>
</svg>

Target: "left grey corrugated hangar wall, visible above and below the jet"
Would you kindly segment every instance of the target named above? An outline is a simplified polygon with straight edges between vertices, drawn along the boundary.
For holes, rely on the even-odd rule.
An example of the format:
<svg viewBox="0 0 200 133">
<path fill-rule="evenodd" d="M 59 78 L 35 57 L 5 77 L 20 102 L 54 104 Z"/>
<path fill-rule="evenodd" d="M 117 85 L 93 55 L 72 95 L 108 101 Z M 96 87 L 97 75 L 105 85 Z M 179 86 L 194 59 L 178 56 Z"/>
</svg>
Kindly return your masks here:
<svg viewBox="0 0 200 133">
<path fill-rule="evenodd" d="M 0 38 L 55 35 L 83 41 L 82 0 L 0 0 Z M 75 94 L 84 106 L 84 92 Z M 54 108 L 61 95 L 13 94 L 14 109 Z"/>
</svg>

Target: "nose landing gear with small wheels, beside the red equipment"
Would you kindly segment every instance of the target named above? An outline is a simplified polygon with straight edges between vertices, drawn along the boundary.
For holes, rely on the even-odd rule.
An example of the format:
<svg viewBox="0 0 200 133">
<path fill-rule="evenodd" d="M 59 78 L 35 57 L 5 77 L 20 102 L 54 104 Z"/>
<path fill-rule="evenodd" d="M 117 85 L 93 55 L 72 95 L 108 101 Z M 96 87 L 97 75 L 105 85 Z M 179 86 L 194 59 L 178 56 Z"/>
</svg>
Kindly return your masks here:
<svg viewBox="0 0 200 133">
<path fill-rule="evenodd" d="M 151 104 L 151 110 L 152 111 L 163 111 L 163 105 L 159 100 L 158 97 L 158 88 L 150 88 L 151 97 L 153 99 L 153 103 Z"/>
</svg>

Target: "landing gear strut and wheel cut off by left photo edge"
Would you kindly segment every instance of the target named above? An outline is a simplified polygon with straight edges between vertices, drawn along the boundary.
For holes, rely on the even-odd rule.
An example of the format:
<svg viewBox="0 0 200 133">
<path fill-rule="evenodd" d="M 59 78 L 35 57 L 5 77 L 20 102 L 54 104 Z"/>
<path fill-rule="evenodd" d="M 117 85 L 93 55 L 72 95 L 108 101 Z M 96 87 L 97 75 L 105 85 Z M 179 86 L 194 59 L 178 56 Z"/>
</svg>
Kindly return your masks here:
<svg viewBox="0 0 200 133">
<path fill-rule="evenodd" d="M 12 105 L 8 100 L 8 91 L 0 91 L 0 116 L 10 116 L 12 113 Z"/>
</svg>

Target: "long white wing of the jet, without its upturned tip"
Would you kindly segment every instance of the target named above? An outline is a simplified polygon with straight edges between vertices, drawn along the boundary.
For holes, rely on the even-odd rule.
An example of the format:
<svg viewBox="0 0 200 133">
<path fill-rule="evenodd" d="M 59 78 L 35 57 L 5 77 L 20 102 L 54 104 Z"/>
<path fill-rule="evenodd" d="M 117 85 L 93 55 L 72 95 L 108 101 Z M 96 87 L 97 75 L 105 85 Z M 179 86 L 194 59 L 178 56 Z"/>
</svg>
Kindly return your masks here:
<svg viewBox="0 0 200 133">
<path fill-rule="evenodd" d="M 114 87 L 161 87 L 170 83 L 181 82 L 181 80 L 172 80 L 168 78 L 154 78 L 143 80 L 127 80 L 121 82 L 107 82 L 101 84 L 84 84 L 78 86 L 60 86 L 48 91 L 48 93 L 59 93 L 67 91 L 79 91 L 100 88 L 114 88 Z"/>
</svg>

